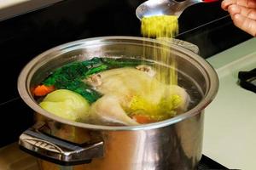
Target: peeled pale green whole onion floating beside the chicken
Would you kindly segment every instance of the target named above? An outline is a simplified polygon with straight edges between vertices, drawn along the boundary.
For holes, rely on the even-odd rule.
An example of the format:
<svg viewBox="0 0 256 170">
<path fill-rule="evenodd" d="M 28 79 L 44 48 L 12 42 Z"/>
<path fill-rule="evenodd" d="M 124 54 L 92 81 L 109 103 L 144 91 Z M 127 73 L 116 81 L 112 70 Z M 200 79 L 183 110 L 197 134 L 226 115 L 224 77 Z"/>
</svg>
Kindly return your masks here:
<svg viewBox="0 0 256 170">
<path fill-rule="evenodd" d="M 67 89 L 55 90 L 39 104 L 44 110 L 70 121 L 85 122 L 90 105 L 80 94 Z"/>
</svg>

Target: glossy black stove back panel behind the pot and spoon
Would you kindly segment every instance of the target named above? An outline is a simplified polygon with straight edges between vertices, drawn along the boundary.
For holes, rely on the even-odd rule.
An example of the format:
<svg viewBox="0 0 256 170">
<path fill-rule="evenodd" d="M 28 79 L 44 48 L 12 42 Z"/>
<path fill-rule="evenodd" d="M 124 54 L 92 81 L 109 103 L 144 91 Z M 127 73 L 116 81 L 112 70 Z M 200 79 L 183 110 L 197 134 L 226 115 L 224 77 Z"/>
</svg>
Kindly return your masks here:
<svg viewBox="0 0 256 170">
<path fill-rule="evenodd" d="M 32 125 L 32 110 L 17 92 L 22 67 L 65 42 L 102 36 L 141 37 L 135 14 L 140 3 L 143 1 L 66 0 L 0 21 L 0 147 L 17 141 Z M 176 38 L 197 45 L 205 59 L 251 38 L 233 26 L 220 2 L 187 8 L 179 18 L 179 33 Z"/>
</svg>

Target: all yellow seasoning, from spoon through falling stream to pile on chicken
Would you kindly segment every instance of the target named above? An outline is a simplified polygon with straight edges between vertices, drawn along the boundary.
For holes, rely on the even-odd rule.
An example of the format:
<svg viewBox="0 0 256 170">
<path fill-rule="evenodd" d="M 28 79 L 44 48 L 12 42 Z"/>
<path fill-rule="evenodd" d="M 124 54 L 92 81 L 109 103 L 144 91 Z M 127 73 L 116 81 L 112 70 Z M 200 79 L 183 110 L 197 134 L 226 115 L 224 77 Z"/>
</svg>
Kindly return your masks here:
<svg viewBox="0 0 256 170">
<path fill-rule="evenodd" d="M 143 47 L 143 57 L 147 59 L 148 56 L 155 61 L 159 61 L 165 65 L 154 65 L 156 71 L 156 78 L 165 86 L 160 86 L 159 83 L 152 81 L 147 93 L 137 94 L 133 96 L 130 102 L 130 107 L 127 110 L 129 116 L 133 117 L 139 123 L 158 122 L 166 120 L 177 114 L 177 106 L 180 105 L 182 99 L 178 95 L 173 94 L 167 86 L 177 85 L 177 64 L 175 55 L 172 54 L 172 48 L 168 48 L 166 43 L 172 41 L 172 37 L 177 35 L 178 24 L 177 16 L 161 15 L 145 17 L 142 20 L 141 31 L 143 37 L 156 38 L 158 41 L 153 43 L 154 49 L 148 48 L 146 44 Z M 167 41 L 166 41 L 167 40 Z M 157 42 L 161 43 L 157 43 Z M 161 88 L 161 89 L 158 89 Z M 156 96 L 153 95 L 156 93 Z M 161 94 L 163 93 L 163 94 Z M 157 96 L 158 94 L 162 96 Z"/>
</svg>

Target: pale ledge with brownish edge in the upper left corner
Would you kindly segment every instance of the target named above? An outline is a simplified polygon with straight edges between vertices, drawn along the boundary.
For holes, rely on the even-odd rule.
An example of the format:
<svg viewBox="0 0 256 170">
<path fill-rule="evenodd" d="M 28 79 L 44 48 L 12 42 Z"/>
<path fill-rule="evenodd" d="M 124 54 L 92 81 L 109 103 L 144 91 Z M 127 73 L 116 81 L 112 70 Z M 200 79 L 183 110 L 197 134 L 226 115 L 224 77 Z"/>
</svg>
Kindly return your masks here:
<svg viewBox="0 0 256 170">
<path fill-rule="evenodd" d="M 0 20 L 44 8 L 62 0 L 0 0 Z"/>
</svg>

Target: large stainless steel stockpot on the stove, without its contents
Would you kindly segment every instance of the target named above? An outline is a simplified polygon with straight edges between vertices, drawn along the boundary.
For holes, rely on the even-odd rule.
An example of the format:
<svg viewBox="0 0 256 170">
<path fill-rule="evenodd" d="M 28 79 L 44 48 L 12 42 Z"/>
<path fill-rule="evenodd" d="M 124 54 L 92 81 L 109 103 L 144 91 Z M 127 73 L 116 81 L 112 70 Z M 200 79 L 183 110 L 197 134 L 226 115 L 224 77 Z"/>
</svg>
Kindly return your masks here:
<svg viewBox="0 0 256 170">
<path fill-rule="evenodd" d="M 32 88 L 61 65 L 95 56 L 153 59 L 155 48 L 156 53 L 160 48 L 171 50 L 177 70 L 201 92 L 201 99 L 189 111 L 172 119 L 132 127 L 70 122 L 44 111 L 32 97 Z M 18 89 L 36 112 L 35 126 L 20 135 L 20 148 L 47 160 L 40 161 L 43 169 L 64 168 L 56 165 L 61 164 L 76 165 L 68 167 L 71 169 L 191 170 L 201 159 L 202 113 L 217 94 L 218 77 L 205 59 L 173 43 L 142 37 L 96 37 L 39 54 L 21 71 Z"/>
</svg>

